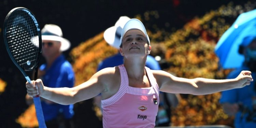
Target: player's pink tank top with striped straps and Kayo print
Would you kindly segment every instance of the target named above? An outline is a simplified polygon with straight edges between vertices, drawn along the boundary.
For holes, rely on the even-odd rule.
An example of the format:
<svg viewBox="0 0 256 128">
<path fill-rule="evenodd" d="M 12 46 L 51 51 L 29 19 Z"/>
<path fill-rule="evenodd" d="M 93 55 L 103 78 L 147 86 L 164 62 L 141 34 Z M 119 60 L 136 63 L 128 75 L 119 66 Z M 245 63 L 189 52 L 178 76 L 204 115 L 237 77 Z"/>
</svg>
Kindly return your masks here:
<svg viewBox="0 0 256 128">
<path fill-rule="evenodd" d="M 121 84 L 116 94 L 101 100 L 103 128 L 153 128 L 159 104 L 159 88 L 151 70 L 145 67 L 151 83 L 148 88 L 129 86 L 124 65 L 118 66 Z"/>
</svg>

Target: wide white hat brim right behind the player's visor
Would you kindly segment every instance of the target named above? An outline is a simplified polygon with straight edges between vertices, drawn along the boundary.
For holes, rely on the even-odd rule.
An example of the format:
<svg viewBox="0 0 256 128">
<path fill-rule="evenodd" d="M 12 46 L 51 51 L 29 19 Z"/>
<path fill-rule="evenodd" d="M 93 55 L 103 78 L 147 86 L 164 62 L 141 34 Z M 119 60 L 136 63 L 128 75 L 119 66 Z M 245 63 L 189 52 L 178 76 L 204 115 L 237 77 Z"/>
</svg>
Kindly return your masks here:
<svg viewBox="0 0 256 128">
<path fill-rule="evenodd" d="M 111 46 L 113 46 L 113 47 L 119 49 L 119 46 L 120 46 L 120 37 L 117 37 L 117 36 L 116 36 L 116 29 L 117 29 L 116 26 L 112 26 L 112 27 L 106 29 L 106 30 L 104 31 L 103 37 L 104 37 L 105 41 L 106 41 L 109 45 L 111 45 Z"/>
</svg>

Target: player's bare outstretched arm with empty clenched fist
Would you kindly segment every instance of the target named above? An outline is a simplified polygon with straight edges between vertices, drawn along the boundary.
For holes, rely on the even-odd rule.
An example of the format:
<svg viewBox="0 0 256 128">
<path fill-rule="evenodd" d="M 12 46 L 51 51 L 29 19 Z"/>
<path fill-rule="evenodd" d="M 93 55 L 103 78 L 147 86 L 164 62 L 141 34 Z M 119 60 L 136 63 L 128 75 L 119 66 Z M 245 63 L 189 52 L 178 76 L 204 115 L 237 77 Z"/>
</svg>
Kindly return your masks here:
<svg viewBox="0 0 256 128">
<path fill-rule="evenodd" d="M 205 95 L 234 88 L 242 88 L 253 81 L 250 71 L 242 71 L 235 79 L 185 79 L 165 71 L 153 71 L 159 88 L 167 93 Z"/>
</svg>

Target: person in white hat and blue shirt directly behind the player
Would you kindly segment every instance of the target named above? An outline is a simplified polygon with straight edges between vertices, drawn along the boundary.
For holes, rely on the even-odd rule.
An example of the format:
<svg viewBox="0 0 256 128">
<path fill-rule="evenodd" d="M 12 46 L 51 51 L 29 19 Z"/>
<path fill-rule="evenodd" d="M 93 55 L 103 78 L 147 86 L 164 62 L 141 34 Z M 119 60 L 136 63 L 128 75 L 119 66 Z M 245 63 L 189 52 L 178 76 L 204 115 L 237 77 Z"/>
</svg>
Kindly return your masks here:
<svg viewBox="0 0 256 128">
<path fill-rule="evenodd" d="M 121 16 L 115 23 L 115 26 L 112 26 L 104 31 L 103 37 L 104 40 L 110 45 L 115 47 L 116 49 L 120 48 L 120 37 L 121 32 L 124 27 L 124 25 L 130 20 L 127 16 Z M 115 67 L 118 65 L 122 65 L 124 63 L 124 58 L 120 54 L 120 52 L 116 53 L 113 56 L 110 56 L 103 61 L 101 61 L 98 65 L 97 71 L 100 71 L 104 68 L 108 67 Z M 151 56 L 147 55 L 146 59 L 146 67 L 150 68 L 151 70 L 161 70 L 161 67 L 156 61 L 156 59 Z M 160 100 L 160 109 L 159 114 L 156 118 L 156 126 L 170 126 L 170 112 L 171 107 L 175 108 L 180 100 L 179 94 L 168 94 L 160 92 L 159 97 L 161 97 Z M 101 107 L 101 97 L 96 96 L 94 97 L 94 103 Z"/>
</svg>

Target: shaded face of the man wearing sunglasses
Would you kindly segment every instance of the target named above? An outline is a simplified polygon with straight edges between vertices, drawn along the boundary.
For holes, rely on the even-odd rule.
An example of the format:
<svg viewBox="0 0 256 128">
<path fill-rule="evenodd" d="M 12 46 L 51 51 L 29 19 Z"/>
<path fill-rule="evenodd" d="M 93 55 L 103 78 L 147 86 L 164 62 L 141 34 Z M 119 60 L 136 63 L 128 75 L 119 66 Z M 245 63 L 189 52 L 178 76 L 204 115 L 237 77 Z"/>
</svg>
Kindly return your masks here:
<svg viewBox="0 0 256 128">
<path fill-rule="evenodd" d="M 58 41 L 42 40 L 42 55 L 51 57 L 59 54 L 61 43 Z"/>
</svg>

